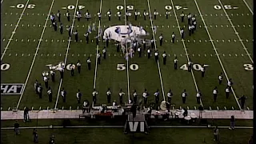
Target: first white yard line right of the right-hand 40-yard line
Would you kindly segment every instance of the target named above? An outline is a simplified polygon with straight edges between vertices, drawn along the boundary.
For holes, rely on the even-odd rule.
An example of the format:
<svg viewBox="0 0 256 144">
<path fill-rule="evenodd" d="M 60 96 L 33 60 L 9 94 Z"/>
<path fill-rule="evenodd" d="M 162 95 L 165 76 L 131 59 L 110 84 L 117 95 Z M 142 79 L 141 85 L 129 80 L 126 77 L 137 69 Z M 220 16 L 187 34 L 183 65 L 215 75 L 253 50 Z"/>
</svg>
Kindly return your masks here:
<svg viewBox="0 0 256 144">
<path fill-rule="evenodd" d="M 201 10 L 199 9 L 198 2 L 197 2 L 196 0 L 194 0 L 194 2 L 195 2 L 195 5 L 196 5 L 197 8 L 198 8 L 199 14 L 201 14 Z M 201 15 L 202 15 L 202 14 L 201 14 Z M 202 18 L 202 16 L 201 16 L 201 18 Z M 206 26 L 206 22 L 205 22 L 205 20 L 204 20 L 203 18 L 202 18 L 202 22 L 203 22 L 203 24 Z M 211 36 L 210 36 L 210 33 L 209 33 L 207 27 L 206 27 L 206 32 L 207 32 L 209 38 L 212 39 Z M 217 55 L 218 62 L 219 62 L 220 65 L 222 66 L 222 70 L 223 70 L 223 72 L 224 72 L 224 74 L 225 74 L 225 76 L 226 76 L 226 80 L 229 81 L 230 78 L 228 78 L 228 76 L 227 76 L 227 74 L 226 74 L 226 70 L 225 70 L 224 66 L 222 65 L 222 60 L 221 60 L 221 59 L 219 58 L 219 56 L 218 56 L 218 51 L 216 50 L 216 47 L 215 47 L 215 45 L 214 45 L 214 42 L 213 42 L 213 41 L 210 41 L 210 42 L 211 42 L 211 45 L 214 47 L 214 51 L 215 51 L 215 54 Z M 237 104 L 238 104 L 238 106 L 239 106 L 239 109 L 241 110 L 241 106 L 240 106 L 240 104 L 239 104 L 239 102 L 238 102 L 238 98 L 237 98 L 236 94 L 234 93 L 234 90 L 233 90 L 233 87 L 232 87 L 232 86 L 231 86 L 231 90 L 232 90 L 232 93 L 233 93 L 233 95 L 234 95 L 234 99 L 236 100 L 236 102 L 237 102 Z"/>
</svg>

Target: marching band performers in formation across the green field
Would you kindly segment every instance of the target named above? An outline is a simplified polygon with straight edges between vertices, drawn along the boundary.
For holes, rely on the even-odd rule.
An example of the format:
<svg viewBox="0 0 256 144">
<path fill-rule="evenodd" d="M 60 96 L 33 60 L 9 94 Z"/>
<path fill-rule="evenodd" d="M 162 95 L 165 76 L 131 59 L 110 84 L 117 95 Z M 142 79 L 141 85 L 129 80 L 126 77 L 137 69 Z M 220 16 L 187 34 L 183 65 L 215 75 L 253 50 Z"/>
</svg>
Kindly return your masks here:
<svg viewBox="0 0 256 144">
<path fill-rule="evenodd" d="M 168 10 L 166 10 L 166 19 L 168 19 L 169 13 L 170 12 Z M 111 10 L 108 10 L 106 14 L 108 16 L 108 20 L 111 21 L 111 16 L 112 16 Z M 98 20 L 101 21 L 102 14 L 98 12 L 97 15 L 98 15 Z M 138 20 L 138 15 L 140 15 L 140 13 L 137 10 L 135 10 L 134 11 L 135 21 Z M 146 10 L 144 10 L 144 12 L 143 12 L 144 20 L 146 20 L 148 15 L 149 14 L 146 12 Z M 157 19 L 157 15 L 158 15 L 158 12 L 156 10 L 154 10 L 154 20 Z M 117 16 L 118 16 L 118 20 L 121 21 L 122 12 L 120 10 L 118 11 Z M 129 18 L 131 16 L 132 16 L 132 14 L 127 11 L 126 12 L 126 20 L 129 21 Z M 58 28 L 59 28 L 60 34 L 63 34 L 63 24 L 62 24 L 61 17 L 62 17 L 62 14 L 58 10 L 57 18 L 55 18 L 55 14 L 51 13 L 50 20 L 52 22 L 52 26 L 54 27 L 54 31 L 57 31 Z M 79 22 L 80 19 L 82 18 L 81 11 L 77 11 L 75 17 L 77 18 L 77 20 Z M 70 12 L 68 10 L 66 11 L 66 18 L 67 18 L 67 21 L 70 22 Z M 88 10 L 86 10 L 86 14 L 84 14 L 84 18 L 86 18 L 87 21 L 90 20 L 91 15 L 90 15 L 90 12 Z M 181 18 L 181 22 L 185 22 L 185 14 L 183 14 L 183 12 L 180 15 L 180 18 Z M 59 26 L 58 26 L 58 23 L 59 23 Z M 192 16 L 192 14 L 187 15 L 187 26 L 188 26 L 189 36 L 194 34 L 195 30 L 196 30 L 196 26 L 197 26 L 196 18 L 195 18 L 194 15 L 193 16 Z M 78 30 L 74 30 L 73 34 L 72 34 L 71 26 L 68 26 L 68 29 L 66 29 L 66 30 L 68 31 L 69 38 L 71 38 L 72 35 L 74 34 L 74 40 L 75 40 L 75 42 L 78 42 Z M 158 62 L 160 54 L 159 54 L 158 50 L 154 49 L 155 39 L 152 37 L 150 40 L 147 40 L 145 38 L 146 35 L 142 34 L 142 30 L 143 30 L 143 27 L 140 26 L 139 27 L 140 32 L 135 33 L 134 32 L 135 30 L 133 30 L 132 24 L 129 22 L 129 24 L 127 26 L 126 38 L 122 38 L 121 42 L 115 41 L 115 46 L 117 46 L 116 51 L 118 53 L 122 52 L 122 54 L 125 56 L 126 61 L 129 61 L 129 58 L 133 58 L 135 53 L 138 53 L 138 58 L 142 58 L 142 54 L 144 52 L 145 52 L 145 54 L 147 54 L 147 58 L 150 59 L 151 58 L 151 53 L 152 53 L 152 51 L 154 51 L 155 62 Z M 92 24 L 92 27 L 89 25 L 88 29 L 86 31 L 86 34 L 83 34 L 86 37 L 86 44 L 88 44 L 90 42 L 90 37 L 89 36 L 90 36 L 90 34 L 92 34 L 92 31 L 96 31 L 95 23 Z M 120 27 L 117 28 L 116 32 L 118 33 L 118 36 L 121 37 L 122 34 L 121 34 L 121 28 Z M 134 33 L 132 33 L 132 32 L 134 32 Z M 157 34 L 157 26 L 153 26 L 153 33 Z M 182 39 L 184 39 L 185 38 L 184 28 L 182 28 L 180 33 L 181 33 Z M 112 34 L 109 31 L 105 35 L 102 35 L 102 27 L 98 26 L 98 32 L 97 32 L 97 35 L 94 38 L 95 38 L 96 46 L 99 45 L 99 41 L 101 40 L 101 38 L 102 38 L 102 42 L 104 43 L 104 46 L 103 46 L 104 48 L 102 49 L 102 52 L 100 50 L 98 50 L 98 52 L 97 52 L 97 58 L 98 58 L 97 62 L 98 62 L 98 65 L 100 65 L 101 64 L 101 57 L 103 57 L 103 59 L 106 59 L 106 51 L 107 51 L 107 48 L 109 47 L 110 41 L 112 39 Z M 171 34 L 170 38 L 171 38 L 171 42 L 174 43 L 175 42 L 174 32 Z M 160 34 L 160 36 L 159 36 L 159 46 L 163 45 L 163 40 L 164 40 L 163 34 Z M 167 54 L 166 54 L 166 51 L 164 51 L 162 53 L 163 65 L 166 65 L 166 58 L 167 58 Z M 87 69 L 91 70 L 90 57 L 87 58 L 86 63 L 87 63 Z M 188 62 L 187 66 L 188 66 L 188 72 L 191 72 L 193 62 L 190 59 L 189 59 L 189 62 Z M 71 63 L 70 67 L 69 67 L 71 77 L 74 76 L 74 73 L 75 73 L 74 70 L 75 69 L 78 70 L 78 74 L 81 74 L 81 70 L 82 70 L 81 68 L 82 68 L 82 63 L 80 62 L 80 60 L 78 60 L 76 65 L 74 63 Z M 174 70 L 177 70 L 177 69 L 178 69 L 178 58 L 176 56 L 174 58 Z M 52 82 L 55 82 L 55 71 L 56 70 L 58 70 L 60 72 L 60 78 L 63 79 L 64 70 L 65 70 L 64 63 L 60 62 L 58 67 L 50 66 L 50 77 L 51 77 Z M 202 78 L 205 77 L 205 72 L 206 72 L 206 67 L 204 65 L 202 65 L 202 69 L 201 69 Z M 48 78 L 48 76 L 49 76 L 48 72 L 43 72 L 42 73 L 42 80 L 43 80 L 43 82 L 45 82 L 46 92 L 49 96 L 49 102 L 52 102 L 53 91 L 51 90 L 51 88 L 49 86 L 49 79 L 50 78 Z M 222 85 L 222 74 L 220 74 L 218 76 L 218 84 Z M 232 82 L 232 79 L 230 78 L 230 80 L 227 82 L 227 86 L 226 86 L 226 89 L 225 89 L 226 98 L 229 98 L 229 96 L 230 96 L 230 91 L 232 90 L 231 89 L 232 85 L 233 85 L 233 82 Z M 43 88 L 42 88 L 41 83 L 38 82 L 38 80 L 36 80 L 35 83 L 34 83 L 34 90 L 35 90 L 35 93 L 38 94 L 38 97 L 42 98 Z M 60 95 L 62 96 L 62 102 L 66 102 L 67 94 L 68 93 L 66 92 L 66 90 L 62 87 L 62 90 L 60 91 Z M 94 89 L 93 92 L 92 92 L 92 101 L 94 102 L 94 104 L 97 103 L 98 94 L 99 94 L 98 91 L 96 89 Z M 160 102 L 159 94 L 160 94 L 160 92 L 159 92 L 158 89 L 153 94 L 154 95 L 154 103 L 157 106 L 159 106 L 158 104 Z M 70 95 L 73 95 L 73 94 L 70 94 Z M 106 90 L 106 102 L 109 103 L 109 104 L 111 103 L 111 95 L 112 95 L 111 89 L 108 88 Z M 125 95 L 125 93 L 122 91 L 122 89 L 120 89 L 120 91 L 118 93 L 118 98 L 119 98 L 119 103 L 121 105 L 124 103 L 123 102 L 123 96 L 124 95 Z M 139 95 L 140 94 L 138 94 L 137 90 L 134 90 L 134 92 L 132 93 L 132 98 L 130 98 L 129 103 L 132 103 L 132 102 L 138 103 L 138 98 L 142 98 L 144 104 L 146 105 L 148 103 L 147 98 L 150 96 L 150 93 L 145 89 L 142 92 L 141 97 L 139 97 Z M 174 97 L 174 95 L 178 95 L 178 94 L 173 94 L 172 90 L 168 91 L 168 93 L 167 93 L 167 98 L 168 99 L 167 99 L 167 102 L 166 102 L 167 107 L 170 106 L 170 104 L 172 103 L 171 100 Z M 182 91 L 182 93 L 181 93 L 182 103 L 186 103 L 186 98 L 188 97 L 188 95 L 189 94 L 187 94 L 186 89 Z M 74 96 L 75 96 L 75 98 L 77 98 L 78 104 L 80 104 L 81 100 L 82 100 L 82 93 L 79 89 L 77 90 L 77 94 L 76 95 L 74 94 Z M 70 97 L 72 97 L 72 96 L 70 96 Z M 217 101 L 217 97 L 218 97 L 218 87 L 215 86 L 214 90 L 213 90 L 214 102 Z M 196 102 L 198 102 L 198 104 L 200 104 L 201 98 L 202 98 L 202 94 L 199 90 L 198 93 L 196 94 L 196 97 L 195 97 Z M 243 95 L 241 98 L 239 98 L 239 100 L 241 100 L 242 109 L 243 109 L 244 104 L 245 104 L 245 100 L 246 100 L 246 96 Z M 116 104 L 115 100 L 114 100 L 114 103 Z M 89 106 L 89 101 L 86 100 L 85 102 L 83 102 L 82 105 L 84 107 Z"/>
</svg>

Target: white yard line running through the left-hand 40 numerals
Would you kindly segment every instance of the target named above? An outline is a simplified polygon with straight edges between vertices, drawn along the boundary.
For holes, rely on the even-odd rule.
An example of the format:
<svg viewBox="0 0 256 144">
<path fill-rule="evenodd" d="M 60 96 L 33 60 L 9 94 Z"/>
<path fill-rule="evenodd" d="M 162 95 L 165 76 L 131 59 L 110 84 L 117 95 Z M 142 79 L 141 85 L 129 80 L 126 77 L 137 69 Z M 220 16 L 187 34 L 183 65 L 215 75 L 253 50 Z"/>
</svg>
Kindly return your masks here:
<svg viewBox="0 0 256 144">
<path fill-rule="evenodd" d="M 73 33 L 74 18 L 75 18 L 75 14 L 76 14 L 76 12 L 77 12 L 77 8 L 78 8 L 78 0 L 77 0 L 77 3 L 76 3 L 76 5 L 75 5 L 75 9 L 74 9 L 74 17 L 73 17 L 73 22 L 72 22 L 72 25 L 71 25 L 71 36 L 72 36 L 72 33 Z M 64 60 L 64 66 L 66 66 L 67 54 L 69 54 L 69 50 L 70 50 L 70 40 L 71 40 L 71 37 L 70 37 L 70 39 L 69 39 L 69 42 L 67 43 L 66 56 L 65 56 L 65 60 Z M 64 70 L 63 72 L 65 72 L 65 70 Z M 61 79 L 61 82 L 59 82 L 58 94 L 57 94 L 57 99 L 56 99 L 56 103 L 55 103 L 54 109 L 57 108 L 58 96 L 59 96 L 59 93 L 60 93 L 60 90 L 61 90 L 61 87 L 62 87 L 62 81 L 63 81 L 63 79 Z"/>
</svg>

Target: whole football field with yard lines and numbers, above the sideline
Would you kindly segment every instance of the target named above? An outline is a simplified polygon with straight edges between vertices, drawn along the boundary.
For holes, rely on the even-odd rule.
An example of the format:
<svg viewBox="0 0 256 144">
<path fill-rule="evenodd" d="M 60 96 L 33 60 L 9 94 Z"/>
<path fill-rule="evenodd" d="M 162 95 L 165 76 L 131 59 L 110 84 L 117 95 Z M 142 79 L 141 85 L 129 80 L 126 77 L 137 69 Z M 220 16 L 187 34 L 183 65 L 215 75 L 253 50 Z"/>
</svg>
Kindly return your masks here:
<svg viewBox="0 0 256 144">
<path fill-rule="evenodd" d="M 111 101 L 119 102 L 120 89 L 125 93 L 124 102 L 133 97 L 137 90 L 138 98 L 142 98 L 144 89 L 149 92 L 149 101 L 154 102 L 154 92 L 159 90 L 160 102 L 167 99 L 172 90 L 174 96 L 171 105 L 174 108 L 184 106 L 198 109 L 196 94 L 202 93 L 202 105 L 212 110 L 240 110 L 238 98 L 245 94 L 245 109 L 253 108 L 253 0 L 2 0 L 2 34 L 1 34 L 1 107 L 2 110 L 17 108 L 23 110 L 30 107 L 34 110 L 45 109 L 82 109 L 78 104 L 76 93 L 82 93 L 82 101 L 92 102 L 94 88 L 98 90 L 97 103 L 106 103 L 106 91 L 110 88 Z M 60 34 L 54 31 L 50 14 L 61 14 L 64 30 Z M 66 18 L 70 12 L 70 22 Z M 84 18 L 88 10 L 89 21 Z M 108 18 L 111 10 L 111 19 Z M 135 20 L 134 12 L 140 12 Z M 143 12 L 146 11 L 146 20 Z M 154 10 L 158 12 L 154 19 Z M 77 12 L 82 18 L 78 21 Z M 122 17 L 118 20 L 118 11 Z M 185 14 L 182 22 L 181 14 Z M 102 14 L 99 21 L 98 13 Z M 127 18 L 124 14 L 130 13 Z M 166 14 L 168 18 L 166 18 Z M 194 34 L 189 35 L 187 15 L 195 16 L 197 26 Z M 151 17 L 152 16 L 152 17 Z M 59 26 L 60 22 L 57 25 Z M 86 43 L 84 34 L 88 26 L 96 26 L 90 34 L 90 42 Z M 151 58 L 147 58 L 146 50 L 142 58 L 138 52 L 133 58 L 125 59 L 125 54 L 117 52 L 114 40 L 106 48 L 106 59 L 98 63 L 97 51 L 102 54 L 106 42 L 99 38 L 96 46 L 95 37 L 102 29 L 115 27 L 143 26 L 146 39 L 155 40 L 151 50 Z M 78 30 L 78 42 L 74 34 L 69 38 L 68 26 L 71 31 Z M 153 27 L 157 27 L 156 34 Z M 98 29 L 99 28 L 99 29 Z M 185 38 L 181 38 L 180 30 L 184 28 Z M 176 35 L 171 42 L 171 34 Z M 121 36 L 127 36 L 126 31 Z M 160 46 L 159 36 L 163 36 Z M 120 36 L 120 37 L 121 37 Z M 154 59 L 154 50 L 159 52 L 159 61 Z M 163 65 L 162 54 L 166 51 L 166 65 Z M 174 58 L 178 58 L 178 70 L 174 70 Z M 90 57 L 91 70 L 87 69 L 87 58 Z M 188 72 L 189 59 L 194 63 Z M 82 64 L 81 74 L 77 68 L 71 76 L 69 66 L 78 62 Z M 65 63 L 64 78 L 56 70 L 55 82 L 49 80 L 53 91 L 53 102 L 48 101 L 48 94 L 42 79 L 42 72 L 50 71 L 49 65 L 57 66 Z M 206 66 L 205 77 L 202 78 L 201 68 Z M 223 82 L 218 84 L 218 75 L 222 73 Z M 50 78 L 50 76 L 49 76 Z M 226 98 L 227 80 L 234 83 L 230 97 Z M 42 99 L 34 91 L 34 82 L 42 84 Z M 218 87 L 217 102 L 214 102 L 213 90 Z M 62 102 L 60 90 L 66 90 L 66 102 Z M 182 92 L 188 94 L 186 103 L 182 103 Z"/>
</svg>

